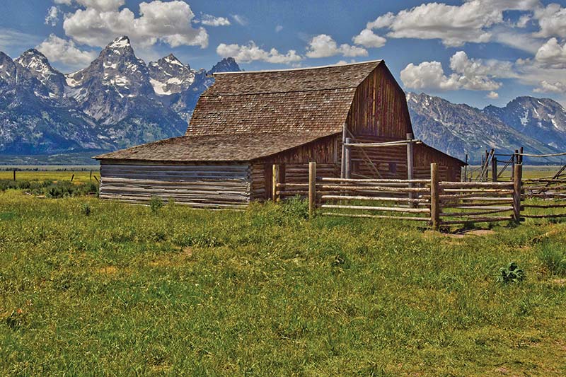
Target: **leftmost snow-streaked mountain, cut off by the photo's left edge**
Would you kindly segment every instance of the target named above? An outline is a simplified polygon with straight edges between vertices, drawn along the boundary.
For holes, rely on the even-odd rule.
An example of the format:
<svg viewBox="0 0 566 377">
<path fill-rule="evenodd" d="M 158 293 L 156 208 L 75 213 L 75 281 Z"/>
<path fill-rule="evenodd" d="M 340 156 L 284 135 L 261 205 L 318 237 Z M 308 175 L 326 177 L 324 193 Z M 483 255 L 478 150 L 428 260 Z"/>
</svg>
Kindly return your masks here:
<svg viewBox="0 0 566 377">
<path fill-rule="evenodd" d="M 41 62 L 32 55 L 26 52 L 14 62 L 0 52 L 0 152 L 39 154 L 112 148 L 93 134 L 96 122 L 91 117 L 76 110 L 74 101 L 54 93 L 57 88 L 51 84 L 57 81 L 44 74 L 49 65 L 41 68 Z"/>
</svg>

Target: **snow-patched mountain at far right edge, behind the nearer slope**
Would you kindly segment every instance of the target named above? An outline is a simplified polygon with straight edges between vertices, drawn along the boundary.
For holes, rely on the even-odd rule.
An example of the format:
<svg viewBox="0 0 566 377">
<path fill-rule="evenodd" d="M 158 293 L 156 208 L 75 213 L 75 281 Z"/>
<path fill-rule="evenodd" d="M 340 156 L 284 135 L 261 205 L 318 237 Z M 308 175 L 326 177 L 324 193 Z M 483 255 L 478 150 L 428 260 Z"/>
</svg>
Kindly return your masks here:
<svg viewBox="0 0 566 377">
<path fill-rule="evenodd" d="M 487 106 L 483 112 L 549 146 L 566 146 L 566 110 L 554 100 L 518 97 L 504 108 Z"/>
</svg>

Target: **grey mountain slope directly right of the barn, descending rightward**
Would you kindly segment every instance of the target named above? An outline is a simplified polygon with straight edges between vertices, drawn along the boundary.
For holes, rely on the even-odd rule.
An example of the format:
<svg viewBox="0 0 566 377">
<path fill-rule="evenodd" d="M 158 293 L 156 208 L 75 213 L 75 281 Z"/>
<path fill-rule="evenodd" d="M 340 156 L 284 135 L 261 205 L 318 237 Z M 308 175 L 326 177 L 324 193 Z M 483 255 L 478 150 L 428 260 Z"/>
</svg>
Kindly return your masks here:
<svg viewBox="0 0 566 377">
<path fill-rule="evenodd" d="M 483 151 L 492 148 L 503 153 L 520 146 L 531 153 L 557 151 L 536 136 L 514 129 L 489 110 L 450 103 L 424 93 L 408 93 L 407 102 L 415 137 L 451 156 L 464 159 L 467 153 L 470 161 L 478 162 Z"/>
</svg>

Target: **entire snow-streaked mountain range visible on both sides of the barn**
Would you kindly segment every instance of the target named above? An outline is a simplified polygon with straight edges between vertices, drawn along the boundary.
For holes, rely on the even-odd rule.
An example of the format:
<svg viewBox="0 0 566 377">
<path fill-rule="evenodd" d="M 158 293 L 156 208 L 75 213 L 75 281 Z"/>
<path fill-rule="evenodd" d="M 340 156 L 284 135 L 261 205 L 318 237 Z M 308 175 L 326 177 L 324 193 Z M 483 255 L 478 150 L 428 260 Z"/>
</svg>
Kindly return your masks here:
<svg viewBox="0 0 566 377">
<path fill-rule="evenodd" d="M 94 154 L 182 135 L 221 71 L 240 67 L 226 58 L 195 70 L 173 54 L 146 64 L 125 36 L 71 74 L 35 49 L 17 59 L 0 52 L 0 156 Z M 472 163 L 485 149 L 555 153 L 566 145 L 566 110 L 548 98 L 482 110 L 425 93 L 407 100 L 415 137 Z"/>
</svg>

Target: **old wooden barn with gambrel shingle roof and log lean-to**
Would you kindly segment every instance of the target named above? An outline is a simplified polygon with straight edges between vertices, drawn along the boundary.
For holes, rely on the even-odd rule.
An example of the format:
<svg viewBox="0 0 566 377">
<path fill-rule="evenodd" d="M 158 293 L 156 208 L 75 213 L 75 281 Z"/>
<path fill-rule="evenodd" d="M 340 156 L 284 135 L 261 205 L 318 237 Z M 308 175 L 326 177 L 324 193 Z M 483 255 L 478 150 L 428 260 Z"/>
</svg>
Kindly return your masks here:
<svg viewBox="0 0 566 377">
<path fill-rule="evenodd" d="M 442 180 L 460 180 L 463 161 L 412 140 L 405 93 L 381 60 L 214 78 L 184 136 L 94 157 L 100 198 L 245 206 L 270 198 L 273 164 L 307 182 L 310 161 L 324 177 L 344 177 L 347 162 L 352 178 L 401 179 L 427 178 L 436 162 Z"/>
</svg>

